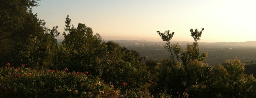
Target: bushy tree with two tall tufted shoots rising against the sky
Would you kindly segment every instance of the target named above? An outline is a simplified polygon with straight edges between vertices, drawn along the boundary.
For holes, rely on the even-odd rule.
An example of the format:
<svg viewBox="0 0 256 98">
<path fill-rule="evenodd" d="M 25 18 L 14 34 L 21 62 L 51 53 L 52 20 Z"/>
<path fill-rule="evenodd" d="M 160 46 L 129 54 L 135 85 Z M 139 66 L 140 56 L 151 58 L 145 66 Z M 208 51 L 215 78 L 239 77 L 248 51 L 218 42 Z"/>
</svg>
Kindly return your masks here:
<svg viewBox="0 0 256 98">
<path fill-rule="evenodd" d="M 168 30 L 160 33 L 157 31 L 163 41 L 166 41 L 165 48 L 170 53 L 170 59 L 162 61 L 160 66 L 160 83 L 158 85 L 161 89 L 167 90 L 167 92 L 184 92 L 186 88 L 204 84 L 205 80 L 209 79 L 212 68 L 202 62 L 207 57 L 207 53 L 199 55 L 200 51 L 197 43 L 203 30 L 203 28 L 201 31 L 190 29 L 194 43 L 193 45 L 187 45 L 187 49 L 182 51 L 178 43 L 171 44 L 170 40 L 174 32 L 170 33 L 170 30 Z"/>
</svg>

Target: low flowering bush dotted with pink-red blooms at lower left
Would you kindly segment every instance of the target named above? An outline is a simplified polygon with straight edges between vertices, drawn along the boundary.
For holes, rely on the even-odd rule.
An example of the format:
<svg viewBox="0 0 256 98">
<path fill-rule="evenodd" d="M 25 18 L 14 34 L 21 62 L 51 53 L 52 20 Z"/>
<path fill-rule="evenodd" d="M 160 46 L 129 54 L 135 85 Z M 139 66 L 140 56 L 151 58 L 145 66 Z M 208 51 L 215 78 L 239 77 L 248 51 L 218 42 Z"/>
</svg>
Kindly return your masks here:
<svg viewBox="0 0 256 98">
<path fill-rule="evenodd" d="M 89 72 L 34 70 L 25 67 L 0 69 L 0 97 L 104 97 L 120 91 L 104 84 Z"/>
</svg>

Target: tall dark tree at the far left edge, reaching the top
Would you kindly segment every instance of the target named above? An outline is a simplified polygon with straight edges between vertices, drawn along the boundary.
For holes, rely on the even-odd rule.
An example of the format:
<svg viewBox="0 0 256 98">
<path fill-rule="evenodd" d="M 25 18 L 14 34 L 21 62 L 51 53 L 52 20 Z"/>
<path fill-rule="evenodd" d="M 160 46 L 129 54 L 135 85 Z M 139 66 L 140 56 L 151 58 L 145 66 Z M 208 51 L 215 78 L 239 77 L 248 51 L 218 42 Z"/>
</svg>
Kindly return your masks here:
<svg viewBox="0 0 256 98">
<path fill-rule="evenodd" d="M 2 0 L 0 6 L 0 63 L 13 65 L 35 64 L 42 61 L 38 51 L 29 53 L 31 49 L 39 49 L 37 44 L 47 31 L 44 20 L 32 13 L 38 0 Z M 34 47 L 32 47 L 34 46 Z M 41 51 L 41 50 L 40 50 Z M 30 55 L 28 57 L 28 55 Z M 37 60 L 33 61 L 32 60 Z M 26 62 L 30 61 L 30 62 Z"/>
</svg>

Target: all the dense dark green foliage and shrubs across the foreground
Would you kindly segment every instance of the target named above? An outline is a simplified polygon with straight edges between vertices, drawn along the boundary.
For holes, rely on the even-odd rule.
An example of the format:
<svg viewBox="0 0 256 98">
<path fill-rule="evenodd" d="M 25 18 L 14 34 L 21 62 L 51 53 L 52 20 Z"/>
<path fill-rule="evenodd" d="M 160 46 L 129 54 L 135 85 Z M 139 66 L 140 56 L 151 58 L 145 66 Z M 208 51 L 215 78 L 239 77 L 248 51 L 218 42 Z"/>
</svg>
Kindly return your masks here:
<svg viewBox="0 0 256 98">
<path fill-rule="evenodd" d="M 37 0 L 2 0 L 0 4 L 0 97 L 255 97 L 253 75 L 238 59 L 209 66 L 198 41 L 204 29 L 190 29 L 194 39 L 182 50 L 174 32 L 161 33 L 170 58 L 157 63 L 135 50 L 105 42 L 83 23 L 67 16 L 64 41 L 55 26 L 32 13 Z"/>
</svg>

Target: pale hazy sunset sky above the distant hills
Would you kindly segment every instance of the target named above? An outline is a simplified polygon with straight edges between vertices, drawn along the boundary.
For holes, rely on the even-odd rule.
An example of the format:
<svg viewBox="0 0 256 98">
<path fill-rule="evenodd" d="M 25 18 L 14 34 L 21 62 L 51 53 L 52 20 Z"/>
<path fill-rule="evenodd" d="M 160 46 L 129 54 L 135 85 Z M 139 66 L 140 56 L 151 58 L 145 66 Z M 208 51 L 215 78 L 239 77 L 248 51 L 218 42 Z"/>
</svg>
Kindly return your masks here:
<svg viewBox="0 0 256 98">
<path fill-rule="evenodd" d="M 157 30 L 174 31 L 174 41 L 193 41 L 190 29 L 204 28 L 200 42 L 256 41 L 255 0 L 41 0 L 33 12 L 49 28 L 65 18 L 85 23 L 103 39 L 159 39 Z M 131 38 L 136 37 L 136 38 Z M 60 35 L 59 38 L 63 38 Z"/>
</svg>

